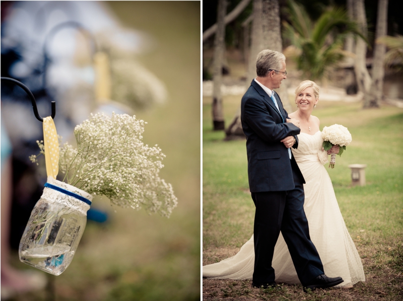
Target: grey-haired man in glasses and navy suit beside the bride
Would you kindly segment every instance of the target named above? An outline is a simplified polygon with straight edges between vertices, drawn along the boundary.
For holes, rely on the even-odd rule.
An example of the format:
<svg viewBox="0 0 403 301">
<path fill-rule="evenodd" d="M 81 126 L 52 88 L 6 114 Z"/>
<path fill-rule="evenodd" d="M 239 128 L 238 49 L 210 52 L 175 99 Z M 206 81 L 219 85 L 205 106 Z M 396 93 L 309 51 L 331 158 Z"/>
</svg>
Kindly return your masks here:
<svg viewBox="0 0 403 301">
<path fill-rule="evenodd" d="M 287 78 L 285 56 L 273 50 L 261 51 L 256 73 L 241 102 L 249 188 L 256 206 L 252 285 L 266 288 L 276 284 L 272 259 L 280 231 L 304 289 L 337 285 L 343 279 L 324 275 L 309 237 L 303 207 L 305 180 L 291 152 L 291 147 L 298 147 L 299 121 L 289 119 L 273 91 Z"/>
</svg>

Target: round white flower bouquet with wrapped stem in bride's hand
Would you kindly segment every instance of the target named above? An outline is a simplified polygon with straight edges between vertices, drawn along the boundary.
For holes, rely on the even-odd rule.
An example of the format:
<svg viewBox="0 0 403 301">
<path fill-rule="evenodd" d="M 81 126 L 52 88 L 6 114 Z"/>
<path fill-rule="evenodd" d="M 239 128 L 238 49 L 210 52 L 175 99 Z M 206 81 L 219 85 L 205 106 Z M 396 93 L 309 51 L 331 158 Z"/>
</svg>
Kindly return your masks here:
<svg viewBox="0 0 403 301">
<path fill-rule="evenodd" d="M 325 126 L 322 130 L 323 148 L 329 150 L 334 145 L 339 145 L 339 156 L 342 156 L 346 146 L 350 144 L 352 137 L 347 129 L 340 124 Z M 336 162 L 336 154 L 331 154 L 329 168 L 334 168 Z"/>
</svg>

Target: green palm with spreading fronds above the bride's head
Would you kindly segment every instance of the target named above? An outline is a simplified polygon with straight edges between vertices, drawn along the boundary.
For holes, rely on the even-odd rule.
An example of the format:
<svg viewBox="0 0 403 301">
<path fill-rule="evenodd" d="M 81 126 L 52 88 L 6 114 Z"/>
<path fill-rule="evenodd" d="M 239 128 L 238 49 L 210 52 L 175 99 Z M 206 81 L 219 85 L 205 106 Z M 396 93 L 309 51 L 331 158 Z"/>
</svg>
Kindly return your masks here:
<svg viewBox="0 0 403 301">
<path fill-rule="evenodd" d="M 328 72 L 350 54 L 343 50 L 349 34 L 366 40 L 343 9 L 332 7 L 314 23 L 301 5 L 289 0 L 288 13 L 290 23 L 284 23 L 283 34 L 292 46 L 285 52 L 296 60 L 298 69 L 310 80 L 327 77 Z"/>
</svg>

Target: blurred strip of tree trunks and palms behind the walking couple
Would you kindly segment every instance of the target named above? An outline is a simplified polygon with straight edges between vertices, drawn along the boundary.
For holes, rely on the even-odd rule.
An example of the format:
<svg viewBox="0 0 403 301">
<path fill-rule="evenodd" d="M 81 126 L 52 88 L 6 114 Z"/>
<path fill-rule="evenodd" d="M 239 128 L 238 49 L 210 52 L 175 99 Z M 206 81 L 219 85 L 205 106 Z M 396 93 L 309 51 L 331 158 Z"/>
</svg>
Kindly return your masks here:
<svg viewBox="0 0 403 301">
<path fill-rule="evenodd" d="M 308 79 L 340 89 L 343 98 L 354 95 L 357 101 L 364 100 L 363 108 L 403 106 L 403 48 L 398 38 L 403 33 L 399 13 L 403 2 L 221 1 L 227 7 L 219 1 L 203 7 L 203 95 L 212 97 L 213 127 L 225 129 L 226 139 L 243 133 L 240 109 L 225 124 L 222 97 L 246 91 L 256 75 L 256 55 L 263 49 L 281 51 L 287 58 L 288 81 L 279 90 L 287 111 L 294 103 L 292 87 Z M 220 20 L 218 8 L 225 13 Z"/>
</svg>

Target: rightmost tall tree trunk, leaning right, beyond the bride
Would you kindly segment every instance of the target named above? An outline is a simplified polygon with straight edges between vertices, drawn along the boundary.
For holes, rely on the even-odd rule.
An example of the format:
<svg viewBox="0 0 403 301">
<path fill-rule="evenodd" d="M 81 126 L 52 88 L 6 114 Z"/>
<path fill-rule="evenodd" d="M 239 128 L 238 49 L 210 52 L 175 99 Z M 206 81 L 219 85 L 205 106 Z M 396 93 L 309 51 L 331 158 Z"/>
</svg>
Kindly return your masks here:
<svg viewBox="0 0 403 301">
<path fill-rule="evenodd" d="M 388 0 L 378 0 L 378 16 L 376 20 L 375 41 L 387 34 Z M 383 95 L 383 77 L 385 74 L 384 58 L 386 45 L 375 43 L 372 63 L 372 85 L 364 95 L 364 108 L 378 108 Z"/>
</svg>

